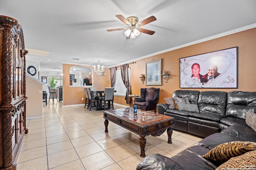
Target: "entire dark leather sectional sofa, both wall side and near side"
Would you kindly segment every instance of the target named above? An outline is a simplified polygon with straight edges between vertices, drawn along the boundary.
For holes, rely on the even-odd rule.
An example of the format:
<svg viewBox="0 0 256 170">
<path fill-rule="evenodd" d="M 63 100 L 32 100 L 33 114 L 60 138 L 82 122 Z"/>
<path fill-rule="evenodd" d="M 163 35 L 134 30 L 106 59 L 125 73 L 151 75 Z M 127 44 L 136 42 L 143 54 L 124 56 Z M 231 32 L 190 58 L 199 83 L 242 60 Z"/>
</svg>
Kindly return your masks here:
<svg viewBox="0 0 256 170">
<path fill-rule="evenodd" d="M 175 118 L 173 129 L 205 138 L 197 146 L 189 147 L 171 158 L 157 153 L 147 156 L 136 170 L 223 170 L 227 167 L 223 168 L 222 163 L 206 159 L 203 155 L 220 144 L 232 141 L 250 141 L 256 146 L 256 130 L 246 124 L 246 113 L 250 109 L 256 113 L 256 92 L 177 90 L 173 93 L 175 96 L 188 98 L 191 104 L 197 104 L 199 113 L 169 109 L 167 104 L 158 104 L 158 113 Z M 248 161 L 251 165 L 245 163 L 246 166 L 256 169 L 256 150 L 247 153 L 250 156 L 242 154 L 235 163 L 230 161 L 232 157 L 224 164 L 231 162 L 228 168 L 242 168 L 242 161 Z"/>
</svg>

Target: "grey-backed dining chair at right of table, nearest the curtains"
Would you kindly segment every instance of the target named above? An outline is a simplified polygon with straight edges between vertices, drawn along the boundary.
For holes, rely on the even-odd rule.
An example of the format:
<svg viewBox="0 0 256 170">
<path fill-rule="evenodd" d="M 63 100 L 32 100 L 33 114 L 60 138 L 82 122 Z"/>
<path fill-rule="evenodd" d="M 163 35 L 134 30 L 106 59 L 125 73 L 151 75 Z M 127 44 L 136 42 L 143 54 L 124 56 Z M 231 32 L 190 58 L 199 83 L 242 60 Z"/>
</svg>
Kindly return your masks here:
<svg viewBox="0 0 256 170">
<path fill-rule="evenodd" d="M 105 91 L 104 96 L 100 97 L 101 107 L 104 107 L 104 110 L 106 110 L 106 106 L 107 106 L 107 108 L 112 107 L 112 109 L 114 109 L 114 104 L 113 104 L 114 88 L 113 87 L 106 87 L 104 91 Z"/>
</svg>

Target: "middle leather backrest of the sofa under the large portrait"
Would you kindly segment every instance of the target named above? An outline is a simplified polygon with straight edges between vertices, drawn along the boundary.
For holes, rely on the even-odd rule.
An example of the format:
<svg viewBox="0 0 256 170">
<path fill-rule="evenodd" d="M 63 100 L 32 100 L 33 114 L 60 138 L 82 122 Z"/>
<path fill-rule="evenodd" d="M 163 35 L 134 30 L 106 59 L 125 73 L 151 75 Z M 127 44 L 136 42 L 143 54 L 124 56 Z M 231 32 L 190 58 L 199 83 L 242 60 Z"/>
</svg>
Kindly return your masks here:
<svg viewBox="0 0 256 170">
<path fill-rule="evenodd" d="M 198 109 L 200 112 L 217 113 L 226 115 L 227 92 L 206 91 L 200 92 L 198 96 Z"/>
</svg>

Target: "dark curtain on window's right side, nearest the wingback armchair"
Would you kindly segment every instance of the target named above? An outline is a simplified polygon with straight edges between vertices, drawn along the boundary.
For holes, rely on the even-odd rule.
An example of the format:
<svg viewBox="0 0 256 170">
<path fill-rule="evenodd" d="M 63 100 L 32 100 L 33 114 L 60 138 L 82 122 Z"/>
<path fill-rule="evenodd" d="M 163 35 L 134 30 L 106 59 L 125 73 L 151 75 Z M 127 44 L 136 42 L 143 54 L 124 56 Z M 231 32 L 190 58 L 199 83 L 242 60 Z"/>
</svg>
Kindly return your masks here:
<svg viewBox="0 0 256 170">
<path fill-rule="evenodd" d="M 124 83 L 124 86 L 126 87 L 126 104 L 131 104 L 131 98 L 128 97 L 128 95 L 131 93 L 131 87 L 129 83 L 129 77 L 128 77 L 128 64 L 121 65 L 121 77 Z"/>
</svg>

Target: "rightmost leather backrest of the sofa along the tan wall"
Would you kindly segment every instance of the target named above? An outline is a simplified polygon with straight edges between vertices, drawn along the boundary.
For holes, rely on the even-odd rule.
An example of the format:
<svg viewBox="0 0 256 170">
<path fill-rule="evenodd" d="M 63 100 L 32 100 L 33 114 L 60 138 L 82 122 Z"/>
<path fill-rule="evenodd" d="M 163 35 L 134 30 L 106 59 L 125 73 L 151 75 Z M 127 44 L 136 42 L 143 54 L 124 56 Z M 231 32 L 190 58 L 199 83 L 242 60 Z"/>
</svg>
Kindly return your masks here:
<svg viewBox="0 0 256 170">
<path fill-rule="evenodd" d="M 245 119 L 250 109 L 256 112 L 256 92 L 228 92 L 226 116 Z"/>
</svg>

